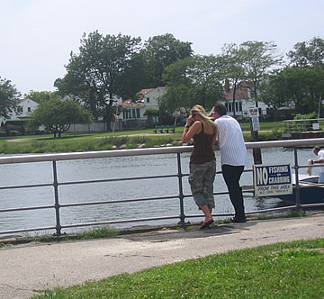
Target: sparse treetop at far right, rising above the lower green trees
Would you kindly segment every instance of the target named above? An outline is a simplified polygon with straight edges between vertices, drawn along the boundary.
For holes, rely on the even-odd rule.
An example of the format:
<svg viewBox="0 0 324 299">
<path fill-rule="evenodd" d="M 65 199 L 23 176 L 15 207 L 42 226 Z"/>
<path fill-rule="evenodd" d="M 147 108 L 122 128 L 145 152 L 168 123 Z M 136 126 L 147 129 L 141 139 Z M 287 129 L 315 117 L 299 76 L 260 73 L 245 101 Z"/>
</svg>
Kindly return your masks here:
<svg viewBox="0 0 324 299">
<path fill-rule="evenodd" d="M 324 67 L 324 40 L 320 37 L 314 37 L 311 41 L 298 42 L 293 49 L 287 53 L 292 66 Z"/>
</svg>

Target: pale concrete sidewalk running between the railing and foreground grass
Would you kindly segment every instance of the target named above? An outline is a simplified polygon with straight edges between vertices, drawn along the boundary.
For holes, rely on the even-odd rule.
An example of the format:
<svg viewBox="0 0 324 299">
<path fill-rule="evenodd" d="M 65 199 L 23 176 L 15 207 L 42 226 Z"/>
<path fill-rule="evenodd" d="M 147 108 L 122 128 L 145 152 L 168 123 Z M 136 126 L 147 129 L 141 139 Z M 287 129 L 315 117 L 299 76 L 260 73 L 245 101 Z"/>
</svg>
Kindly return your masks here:
<svg viewBox="0 0 324 299">
<path fill-rule="evenodd" d="M 208 230 L 153 231 L 106 240 L 29 243 L 0 249 L 0 298 L 29 298 L 188 258 L 282 241 L 324 238 L 324 213 L 229 223 Z"/>
</svg>

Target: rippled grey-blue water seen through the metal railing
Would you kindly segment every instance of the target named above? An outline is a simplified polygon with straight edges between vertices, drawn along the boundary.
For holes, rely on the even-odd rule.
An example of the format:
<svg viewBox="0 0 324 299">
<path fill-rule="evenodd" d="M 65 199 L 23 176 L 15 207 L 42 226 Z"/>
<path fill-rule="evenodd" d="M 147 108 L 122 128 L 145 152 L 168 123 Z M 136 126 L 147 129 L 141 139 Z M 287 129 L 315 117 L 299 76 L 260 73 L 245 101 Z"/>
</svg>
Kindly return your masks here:
<svg viewBox="0 0 324 299">
<path fill-rule="evenodd" d="M 181 155 L 182 172 L 189 172 L 190 153 Z M 252 150 L 248 150 L 248 165 L 253 165 Z M 298 163 L 305 165 L 307 159 L 314 158 L 311 149 L 298 150 Z M 294 164 L 293 149 L 262 149 L 263 164 L 291 163 Z M 217 170 L 220 171 L 220 152 L 216 152 Z M 138 157 L 123 157 L 112 159 L 84 159 L 58 161 L 58 182 L 84 181 L 107 178 L 141 177 L 151 175 L 169 175 L 177 173 L 176 155 L 153 155 Z M 51 162 L 23 163 L 0 165 L 1 185 L 29 185 L 53 182 Z M 314 172 L 318 168 L 315 168 Z M 302 168 L 300 173 L 305 173 Z M 252 172 L 244 173 L 241 185 L 252 185 Z M 187 177 L 183 179 L 184 195 L 189 195 L 190 186 Z M 221 174 L 214 183 L 215 192 L 227 191 Z M 59 186 L 60 204 L 84 203 L 95 201 L 111 201 L 119 199 L 143 198 L 151 196 L 178 195 L 177 178 L 142 179 L 94 183 L 86 185 Z M 0 209 L 49 205 L 53 204 L 54 190 L 52 186 L 0 190 Z M 216 210 L 214 213 L 233 213 L 229 195 L 216 195 Z M 246 211 L 256 211 L 277 207 L 283 204 L 278 198 L 255 198 L 245 194 Z M 135 202 L 121 204 L 99 204 L 93 206 L 67 207 L 60 209 L 61 224 L 82 222 L 104 222 L 121 219 L 148 218 L 159 216 L 178 216 L 180 214 L 179 200 L 164 199 L 150 202 Z M 184 198 L 184 214 L 202 214 L 197 210 L 192 197 Z M 202 218 L 202 217 L 200 217 Z M 198 221 L 200 219 L 193 219 Z M 191 219 L 186 219 L 191 221 Z M 175 223 L 178 220 L 165 220 L 153 224 Z M 152 222 L 137 222 L 152 224 Z M 19 230 L 55 225 L 54 209 L 25 212 L 0 213 L 0 231 Z M 114 227 L 129 227 L 131 223 L 114 224 Z M 64 231 L 81 231 L 79 229 L 64 229 Z M 55 231 L 50 231 L 55 232 Z"/>
</svg>

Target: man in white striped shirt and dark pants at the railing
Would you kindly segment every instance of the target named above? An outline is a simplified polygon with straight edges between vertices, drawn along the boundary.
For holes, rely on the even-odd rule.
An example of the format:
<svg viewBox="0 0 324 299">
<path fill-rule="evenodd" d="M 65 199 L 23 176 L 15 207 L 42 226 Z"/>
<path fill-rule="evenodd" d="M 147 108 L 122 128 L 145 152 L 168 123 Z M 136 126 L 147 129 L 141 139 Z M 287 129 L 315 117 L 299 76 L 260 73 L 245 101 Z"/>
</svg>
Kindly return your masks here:
<svg viewBox="0 0 324 299">
<path fill-rule="evenodd" d="M 234 206 L 233 222 L 246 222 L 242 188 L 239 179 L 247 164 L 247 148 L 238 121 L 226 114 L 223 104 L 213 107 L 213 117 L 218 125 L 218 144 L 222 176 L 229 189 L 229 198 Z"/>
</svg>

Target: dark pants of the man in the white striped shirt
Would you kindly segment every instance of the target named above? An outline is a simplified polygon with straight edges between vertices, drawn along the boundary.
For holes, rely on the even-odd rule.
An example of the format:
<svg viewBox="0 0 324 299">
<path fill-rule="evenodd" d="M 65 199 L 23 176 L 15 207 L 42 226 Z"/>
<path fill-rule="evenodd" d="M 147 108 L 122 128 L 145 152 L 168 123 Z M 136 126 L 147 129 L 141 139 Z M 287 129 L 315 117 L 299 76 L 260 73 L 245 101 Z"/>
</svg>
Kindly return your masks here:
<svg viewBox="0 0 324 299">
<path fill-rule="evenodd" d="M 222 165 L 221 171 L 225 183 L 229 189 L 229 198 L 234 206 L 235 220 L 245 221 L 244 203 L 242 188 L 239 186 L 239 178 L 244 170 L 244 166 Z"/>
</svg>

